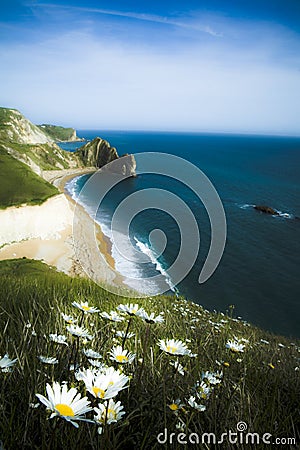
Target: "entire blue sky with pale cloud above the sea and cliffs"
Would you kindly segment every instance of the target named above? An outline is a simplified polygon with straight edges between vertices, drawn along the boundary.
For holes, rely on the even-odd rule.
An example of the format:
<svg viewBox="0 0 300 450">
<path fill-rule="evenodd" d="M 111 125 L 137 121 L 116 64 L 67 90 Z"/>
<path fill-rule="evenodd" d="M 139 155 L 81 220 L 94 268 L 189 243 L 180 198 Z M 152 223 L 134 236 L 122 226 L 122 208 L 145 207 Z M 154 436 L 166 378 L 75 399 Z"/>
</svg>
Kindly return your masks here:
<svg viewBox="0 0 300 450">
<path fill-rule="evenodd" d="M 0 103 L 36 123 L 300 135 L 299 0 L 5 3 Z"/>
</svg>

